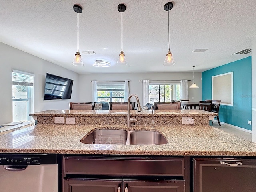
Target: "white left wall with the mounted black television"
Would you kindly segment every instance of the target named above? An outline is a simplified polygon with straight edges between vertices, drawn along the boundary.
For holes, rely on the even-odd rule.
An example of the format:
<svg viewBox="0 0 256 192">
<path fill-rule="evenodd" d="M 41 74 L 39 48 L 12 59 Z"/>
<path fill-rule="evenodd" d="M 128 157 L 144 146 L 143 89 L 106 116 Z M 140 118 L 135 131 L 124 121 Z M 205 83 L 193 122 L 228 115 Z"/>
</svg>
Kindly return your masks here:
<svg viewBox="0 0 256 192">
<path fill-rule="evenodd" d="M 79 74 L 0 42 L 0 124 L 12 122 L 12 69 L 35 74 L 34 112 L 68 109 L 78 100 Z M 43 100 L 46 72 L 74 80 L 70 100 Z"/>
</svg>

